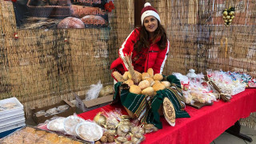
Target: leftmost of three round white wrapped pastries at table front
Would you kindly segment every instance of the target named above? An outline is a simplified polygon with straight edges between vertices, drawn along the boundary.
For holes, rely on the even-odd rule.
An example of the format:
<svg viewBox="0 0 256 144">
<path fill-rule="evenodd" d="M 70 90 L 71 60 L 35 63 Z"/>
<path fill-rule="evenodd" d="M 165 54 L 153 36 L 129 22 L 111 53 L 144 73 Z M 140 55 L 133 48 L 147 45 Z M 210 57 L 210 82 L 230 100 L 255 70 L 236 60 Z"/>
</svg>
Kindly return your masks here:
<svg viewBox="0 0 256 144">
<path fill-rule="evenodd" d="M 48 130 L 64 131 L 64 120 L 65 118 L 56 118 L 47 124 Z"/>
</svg>

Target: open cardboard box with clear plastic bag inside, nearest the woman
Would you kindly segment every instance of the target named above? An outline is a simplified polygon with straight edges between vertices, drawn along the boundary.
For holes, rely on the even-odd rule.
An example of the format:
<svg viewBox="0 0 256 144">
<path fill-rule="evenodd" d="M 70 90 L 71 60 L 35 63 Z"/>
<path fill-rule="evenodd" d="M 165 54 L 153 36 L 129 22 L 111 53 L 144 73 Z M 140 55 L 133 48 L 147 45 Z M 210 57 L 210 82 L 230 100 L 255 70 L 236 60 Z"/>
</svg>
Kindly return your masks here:
<svg viewBox="0 0 256 144">
<path fill-rule="evenodd" d="M 76 99 L 76 106 L 78 108 L 77 113 L 81 113 L 97 109 L 98 107 L 106 106 L 113 102 L 113 94 L 101 97 L 101 98 L 95 98 L 89 101 L 82 101 L 82 99 L 86 98 L 86 95 L 78 96 L 78 94 L 74 94 L 74 98 Z"/>
</svg>

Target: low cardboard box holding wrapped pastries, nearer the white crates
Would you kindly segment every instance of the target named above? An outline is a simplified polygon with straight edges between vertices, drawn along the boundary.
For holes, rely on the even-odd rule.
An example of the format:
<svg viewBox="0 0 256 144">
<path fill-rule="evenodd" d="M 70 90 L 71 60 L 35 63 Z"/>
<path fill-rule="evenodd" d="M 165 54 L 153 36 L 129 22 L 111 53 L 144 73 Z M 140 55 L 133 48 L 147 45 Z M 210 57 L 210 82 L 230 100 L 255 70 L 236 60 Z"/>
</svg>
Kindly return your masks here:
<svg viewBox="0 0 256 144">
<path fill-rule="evenodd" d="M 35 113 L 37 113 L 40 110 L 45 110 L 46 111 L 46 110 L 49 110 L 51 108 L 62 106 L 62 105 L 69 105 L 70 108 L 65 110 L 65 111 L 63 111 L 62 113 L 53 114 L 53 115 L 50 115 L 48 117 L 46 117 L 43 114 L 42 115 L 35 114 Z M 76 107 L 71 102 L 69 102 L 66 99 L 64 99 L 64 100 L 62 100 L 62 102 L 59 102 L 59 103 L 57 103 L 55 105 L 52 105 L 52 106 L 45 106 L 45 107 L 42 107 L 42 108 L 35 107 L 35 108 L 31 109 L 31 111 L 32 111 L 32 118 L 34 119 L 34 122 L 36 122 L 37 124 L 42 123 L 42 122 L 46 122 L 47 119 L 53 118 L 54 116 L 68 117 L 70 115 L 73 115 L 75 113 L 75 110 L 76 110 Z"/>
</svg>

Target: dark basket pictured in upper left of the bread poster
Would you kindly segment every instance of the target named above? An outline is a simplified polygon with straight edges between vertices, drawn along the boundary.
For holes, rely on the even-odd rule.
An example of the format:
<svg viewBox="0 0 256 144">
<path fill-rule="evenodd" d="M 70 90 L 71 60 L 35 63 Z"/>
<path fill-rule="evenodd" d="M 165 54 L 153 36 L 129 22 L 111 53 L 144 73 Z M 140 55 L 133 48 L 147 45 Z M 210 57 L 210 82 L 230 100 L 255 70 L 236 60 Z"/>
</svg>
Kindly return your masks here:
<svg viewBox="0 0 256 144">
<path fill-rule="evenodd" d="M 30 6 L 31 0 L 26 4 L 29 16 L 38 18 L 66 18 L 71 15 L 71 6 Z"/>
</svg>

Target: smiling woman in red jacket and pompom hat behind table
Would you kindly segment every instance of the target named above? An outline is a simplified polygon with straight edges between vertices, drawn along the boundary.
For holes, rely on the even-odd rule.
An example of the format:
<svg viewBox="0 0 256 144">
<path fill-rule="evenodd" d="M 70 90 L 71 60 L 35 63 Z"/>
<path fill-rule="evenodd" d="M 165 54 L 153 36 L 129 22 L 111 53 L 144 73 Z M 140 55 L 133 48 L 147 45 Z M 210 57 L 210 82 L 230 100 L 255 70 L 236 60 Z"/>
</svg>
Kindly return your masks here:
<svg viewBox="0 0 256 144">
<path fill-rule="evenodd" d="M 131 55 L 134 70 L 143 73 L 152 68 L 154 74 L 162 74 L 170 45 L 158 11 L 149 2 L 142 9 L 141 21 L 142 26 L 135 28 L 122 43 L 119 58 L 112 62 L 111 70 L 124 74 L 128 67 L 122 58 Z"/>
</svg>

